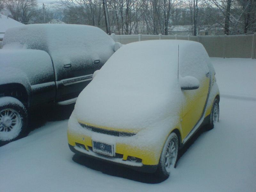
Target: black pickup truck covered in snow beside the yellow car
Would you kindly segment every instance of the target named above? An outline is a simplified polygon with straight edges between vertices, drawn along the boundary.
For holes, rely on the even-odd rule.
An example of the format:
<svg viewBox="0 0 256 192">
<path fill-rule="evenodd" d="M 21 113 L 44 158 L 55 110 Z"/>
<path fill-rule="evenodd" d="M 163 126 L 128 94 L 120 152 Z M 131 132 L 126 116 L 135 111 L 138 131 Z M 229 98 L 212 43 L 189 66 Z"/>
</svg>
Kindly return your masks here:
<svg viewBox="0 0 256 192">
<path fill-rule="evenodd" d="M 119 46 L 100 28 L 86 25 L 8 29 L 0 49 L 0 142 L 25 132 L 28 108 L 74 103 Z"/>
</svg>

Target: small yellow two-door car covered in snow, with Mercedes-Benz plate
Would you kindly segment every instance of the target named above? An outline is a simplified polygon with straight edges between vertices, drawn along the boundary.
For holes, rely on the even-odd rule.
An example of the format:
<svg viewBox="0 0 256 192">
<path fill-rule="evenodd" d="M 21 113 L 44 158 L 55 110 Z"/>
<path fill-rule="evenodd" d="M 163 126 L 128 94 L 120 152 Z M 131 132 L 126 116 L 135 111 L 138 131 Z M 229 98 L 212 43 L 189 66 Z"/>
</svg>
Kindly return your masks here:
<svg viewBox="0 0 256 192">
<path fill-rule="evenodd" d="M 68 122 L 69 148 L 166 178 L 188 139 L 218 122 L 219 101 L 202 44 L 127 44 L 78 96 Z"/>
</svg>

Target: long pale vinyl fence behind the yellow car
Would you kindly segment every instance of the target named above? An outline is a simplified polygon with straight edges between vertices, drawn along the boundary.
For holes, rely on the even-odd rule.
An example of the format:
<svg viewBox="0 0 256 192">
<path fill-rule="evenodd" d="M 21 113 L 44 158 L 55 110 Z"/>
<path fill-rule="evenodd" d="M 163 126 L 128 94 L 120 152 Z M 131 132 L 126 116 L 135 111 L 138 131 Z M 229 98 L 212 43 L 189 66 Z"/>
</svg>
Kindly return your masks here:
<svg viewBox="0 0 256 192">
<path fill-rule="evenodd" d="M 180 39 L 197 41 L 204 45 L 210 57 L 256 59 L 256 34 L 236 36 L 165 36 L 165 35 L 115 35 L 114 41 L 128 44 L 136 41 L 156 39 Z"/>
</svg>

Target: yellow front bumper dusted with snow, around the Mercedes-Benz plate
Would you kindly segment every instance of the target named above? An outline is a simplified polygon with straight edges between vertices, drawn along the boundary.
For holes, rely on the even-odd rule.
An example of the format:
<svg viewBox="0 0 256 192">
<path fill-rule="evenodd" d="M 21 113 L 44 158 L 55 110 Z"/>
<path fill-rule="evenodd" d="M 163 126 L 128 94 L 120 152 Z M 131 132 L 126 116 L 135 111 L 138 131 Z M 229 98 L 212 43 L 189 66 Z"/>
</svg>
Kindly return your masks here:
<svg viewBox="0 0 256 192">
<path fill-rule="evenodd" d="M 139 135 L 139 134 L 138 134 Z M 76 154 L 97 158 L 114 164 L 130 167 L 141 172 L 155 172 L 162 146 L 156 140 L 143 136 L 113 136 L 84 129 L 72 115 L 68 122 L 68 145 Z M 114 144 L 114 157 L 92 151 L 92 140 Z M 130 161 L 129 156 L 137 161 Z"/>
</svg>

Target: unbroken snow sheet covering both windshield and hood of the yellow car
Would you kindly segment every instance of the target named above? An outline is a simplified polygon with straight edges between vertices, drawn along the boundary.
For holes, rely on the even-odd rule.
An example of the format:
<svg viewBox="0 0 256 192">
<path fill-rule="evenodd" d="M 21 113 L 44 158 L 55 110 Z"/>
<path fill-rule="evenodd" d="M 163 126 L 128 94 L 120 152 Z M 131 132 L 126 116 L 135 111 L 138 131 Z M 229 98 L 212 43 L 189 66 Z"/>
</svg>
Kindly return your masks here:
<svg viewBox="0 0 256 192">
<path fill-rule="evenodd" d="M 80 93 L 78 121 L 99 127 L 141 130 L 180 109 L 179 41 L 142 41 L 124 45 Z"/>
</svg>

